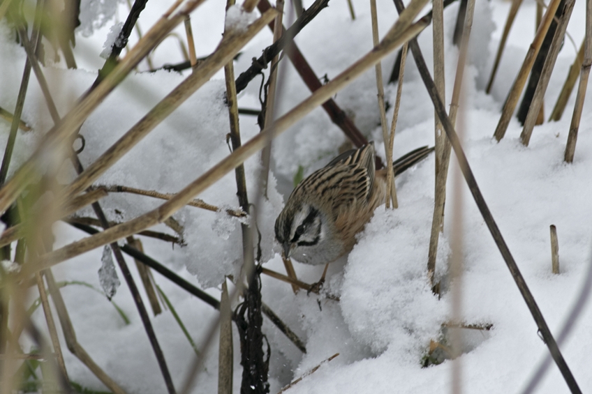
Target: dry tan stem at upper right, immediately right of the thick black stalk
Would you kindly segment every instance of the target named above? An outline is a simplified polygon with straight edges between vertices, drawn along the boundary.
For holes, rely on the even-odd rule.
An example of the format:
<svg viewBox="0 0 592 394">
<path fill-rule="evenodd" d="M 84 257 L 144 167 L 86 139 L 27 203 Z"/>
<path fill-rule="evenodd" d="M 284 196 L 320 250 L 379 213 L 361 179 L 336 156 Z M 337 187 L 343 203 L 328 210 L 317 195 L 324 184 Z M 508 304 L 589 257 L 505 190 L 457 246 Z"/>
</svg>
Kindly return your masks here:
<svg viewBox="0 0 592 394">
<path fill-rule="evenodd" d="M 570 17 L 572 15 L 574 5 L 575 0 L 565 1 L 565 6 L 563 6 L 563 13 L 561 14 L 561 18 L 557 24 L 557 29 L 553 36 L 551 47 L 549 47 L 549 52 L 547 54 L 547 58 L 545 59 L 545 64 L 542 66 L 540 79 L 535 89 L 533 100 L 528 109 L 526 120 L 524 121 L 524 128 L 522 128 L 522 132 L 520 135 L 521 142 L 525 146 L 528 146 L 528 142 L 530 142 L 531 140 L 533 128 L 535 127 L 535 123 L 542 109 L 543 100 L 545 98 L 545 91 L 547 91 L 549 79 L 551 79 L 551 73 L 553 72 L 553 69 L 555 67 L 555 61 L 557 60 L 557 55 L 559 54 L 559 50 L 563 45 L 563 38 L 565 37 L 565 31 L 568 28 L 568 23 L 570 22 Z"/>
</svg>

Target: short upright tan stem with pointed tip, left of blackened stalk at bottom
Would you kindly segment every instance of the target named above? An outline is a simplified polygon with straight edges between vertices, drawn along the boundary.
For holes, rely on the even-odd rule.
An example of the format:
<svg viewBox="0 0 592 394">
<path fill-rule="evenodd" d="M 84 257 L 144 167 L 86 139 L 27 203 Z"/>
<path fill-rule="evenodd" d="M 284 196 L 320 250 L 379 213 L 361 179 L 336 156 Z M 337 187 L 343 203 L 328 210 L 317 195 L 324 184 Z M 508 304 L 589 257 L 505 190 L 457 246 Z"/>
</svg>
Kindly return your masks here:
<svg viewBox="0 0 592 394">
<path fill-rule="evenodd" d="M 234 82 L 234 79 L 232 79 Z M 220 298 L 220 344 L 218 348 L 218 394 L 232 394 L 232 308 L 226 280 Z"/>
</svg>

